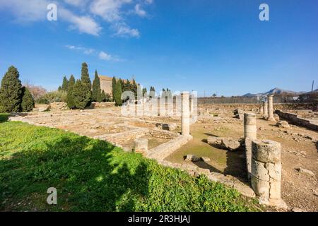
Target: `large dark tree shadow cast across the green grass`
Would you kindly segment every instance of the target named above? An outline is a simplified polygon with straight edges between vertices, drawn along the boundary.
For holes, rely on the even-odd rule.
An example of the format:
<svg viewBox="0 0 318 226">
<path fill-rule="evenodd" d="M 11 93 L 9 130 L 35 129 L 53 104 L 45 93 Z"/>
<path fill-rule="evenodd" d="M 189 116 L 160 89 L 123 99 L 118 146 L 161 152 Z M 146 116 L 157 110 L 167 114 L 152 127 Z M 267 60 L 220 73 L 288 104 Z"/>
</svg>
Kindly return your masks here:
<svg viewBox="0 0 318 226">
<path fill-rule="evenodd" d="M 37 209 L 30 210 L 134 211 L 136 200 L 148 194 L 147 165 L 133 155 L 136 161 L 126 160 L 129 155 L 114 148 L 104 141 L 62 136 L 0 160 L 0 210 L 21 207 L 6 201 L 36 200 L 31 205 Z M 57 189 L 56 206 L 46 203 L 49 187 Z"/>
</svg>

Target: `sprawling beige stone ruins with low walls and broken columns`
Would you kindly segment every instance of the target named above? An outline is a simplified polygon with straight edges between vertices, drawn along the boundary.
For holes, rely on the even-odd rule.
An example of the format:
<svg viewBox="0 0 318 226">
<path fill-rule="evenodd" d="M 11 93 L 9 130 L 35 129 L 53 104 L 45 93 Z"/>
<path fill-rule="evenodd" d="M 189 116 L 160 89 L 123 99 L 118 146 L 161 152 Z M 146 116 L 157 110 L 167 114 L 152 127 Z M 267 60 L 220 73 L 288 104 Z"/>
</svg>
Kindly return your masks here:
<svg viewBox="0 0 318 226">
<path fill-rule="evenodd" d="M 123 117 L 107 109 L 57 111 L 54 114 L 51 112 L 30 113 L 27 116 L 16 115 L 16 117 L 11 117 L 11 120 L 70 131 L 77 128 L 74 129 L 76 132 L 80 128 L 81 135 L 109 141 L 126 151 L 134 150 L 145 157 L 157 160 L 161 165 L 179 168 L 194 176 L 205 174 L 208 179 L 237 189 L 245 196 L 256 196 L 260 203 L 286 208 L 281 199 L 281 145 L 275 141 L 257 139 L 257 119 L 254 112 L 247 113 L 240 109 L 235 112 L 243 120 L 244 145 L 228 137 L 208 137 L 208 143 L 217 143 L 228 150 L 245 148 L 249 184 L 240 182 L 235 177 L 211 172 L 209 169 L 187 163 L 187 161 L 207 161 L 205 157 L 189 155 L 186 157 L 187 161 L 182 164 L 165 160 L 175 150 L 192 140 L 190 133 L 191 119 L 194 117 L 192 105 L 189 93 L 183 92 L 181 94 L 181 120 L 180 117 L 160 116 L 160 114 L 156 117 Z M 263 102 L 261 107 L 258 105 L 257 109 L 264 119 L 278 121 L 273 114 L 272 95 L 268 96 L 267 101 Z M 203 112 L 202 119 L 211 117 L 213 120 L 218 119 L 218 116 L 210 115 L 208 108 L 203 109 Z M 227 112 L 224 111 L 221 114 Z M 68 117 L 68 120 L 63 120 L 64 117 Z M 277 126 L 288 128 L 288 123 L 278 121 Z M 180 129 L 181 133 L 178 133 L 177 129 Z M 151 138 L 157 138 L 160 142 L 157 145 L 151 145 Z"/>
</svg>

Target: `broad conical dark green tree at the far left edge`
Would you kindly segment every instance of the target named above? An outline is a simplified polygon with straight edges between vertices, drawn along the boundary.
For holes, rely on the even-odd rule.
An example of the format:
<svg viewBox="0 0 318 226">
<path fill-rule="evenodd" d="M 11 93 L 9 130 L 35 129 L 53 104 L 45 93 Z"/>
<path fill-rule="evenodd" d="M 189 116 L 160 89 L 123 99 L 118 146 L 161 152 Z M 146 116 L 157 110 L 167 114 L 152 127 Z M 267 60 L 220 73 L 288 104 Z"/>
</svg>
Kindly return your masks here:
<svg viewBox="0 0 318 226">
<path fill-rule="evenodd" d="M 20 112 L 22 99 L 22 85 L 19 72 L 14 66 L 8 68 L 1 81 L 0 111 Z"/>
</svg>

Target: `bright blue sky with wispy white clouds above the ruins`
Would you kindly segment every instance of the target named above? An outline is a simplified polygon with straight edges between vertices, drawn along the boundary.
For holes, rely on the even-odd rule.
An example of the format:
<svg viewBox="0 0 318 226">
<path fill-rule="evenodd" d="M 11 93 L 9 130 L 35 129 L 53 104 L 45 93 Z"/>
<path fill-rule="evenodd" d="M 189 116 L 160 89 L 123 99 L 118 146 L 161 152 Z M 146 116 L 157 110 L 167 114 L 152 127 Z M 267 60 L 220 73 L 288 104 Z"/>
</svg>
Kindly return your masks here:
<svg viewBox="0 0 318 226">
<path fill-rule="evenodd" d="M 54 90 L 86 61 L 91 78 L 98 69 L 201 96 L 317 88 L 317 0 L 64 0 L 49 21 L 52 2 L 0 0 L 1 76 L 14 65 Z"/>
</svg>

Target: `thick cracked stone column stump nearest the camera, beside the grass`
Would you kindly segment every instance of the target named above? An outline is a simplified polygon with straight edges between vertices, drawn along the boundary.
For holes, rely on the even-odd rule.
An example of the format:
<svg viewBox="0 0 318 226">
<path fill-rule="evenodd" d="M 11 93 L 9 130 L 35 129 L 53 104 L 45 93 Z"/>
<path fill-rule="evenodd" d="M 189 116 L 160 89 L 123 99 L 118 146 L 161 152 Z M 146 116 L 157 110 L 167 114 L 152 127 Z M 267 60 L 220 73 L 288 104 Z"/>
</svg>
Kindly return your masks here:
<svg viewBox="0 0 318 226">
<path fill-rule="evenodd" d="M 259 202 L 286 208 L 281 200 L 281 144 L 275 141 L 252 141 L 252 189 Z"/>
</svg>

